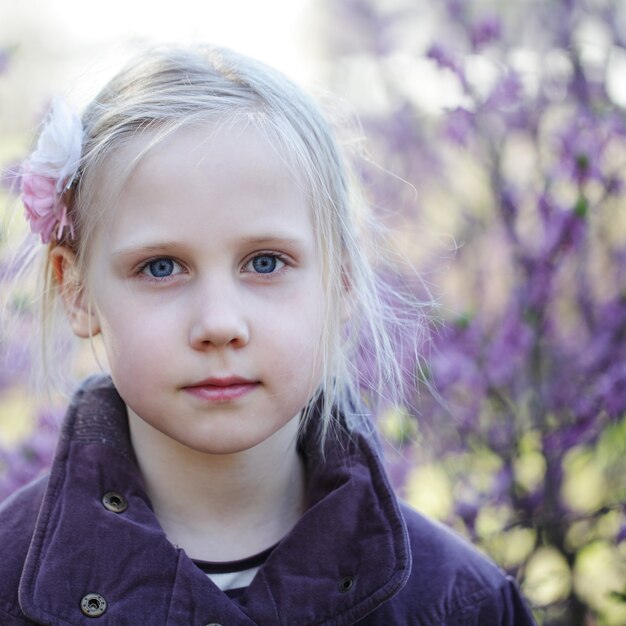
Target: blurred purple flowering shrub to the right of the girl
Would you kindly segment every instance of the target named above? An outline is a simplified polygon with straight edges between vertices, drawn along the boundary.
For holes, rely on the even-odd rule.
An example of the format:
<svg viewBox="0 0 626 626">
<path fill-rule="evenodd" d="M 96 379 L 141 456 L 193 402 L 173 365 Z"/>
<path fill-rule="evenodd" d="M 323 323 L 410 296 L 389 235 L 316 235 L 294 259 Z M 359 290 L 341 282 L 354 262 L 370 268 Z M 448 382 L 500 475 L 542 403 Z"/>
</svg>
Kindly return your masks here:
<svg viewBox="0 0 626 626">
<path fill-rule="evenodd" d="M 374 205 L 420 225 L 401 242 L 442 285 L 434 393 L 382 420 L 396 484 L 516 573 L 543 624 L 626 623 L 626 7 L 326 12 L 331 88 L 385 168 L 363 172 Z"/>
</svg>

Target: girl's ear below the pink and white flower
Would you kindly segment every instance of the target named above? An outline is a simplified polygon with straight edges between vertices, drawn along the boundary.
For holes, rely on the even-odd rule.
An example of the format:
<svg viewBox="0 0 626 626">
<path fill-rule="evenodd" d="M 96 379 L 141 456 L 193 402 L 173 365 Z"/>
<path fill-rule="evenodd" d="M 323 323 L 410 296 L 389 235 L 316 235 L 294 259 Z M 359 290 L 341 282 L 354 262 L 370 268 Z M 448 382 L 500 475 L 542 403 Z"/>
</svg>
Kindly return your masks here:
<svg viewBox="0 0 626 626">
<path fill-rule="evenodd" d="M 56 246 L 50 251 L 50 266 L 74 334 L 83 339 L 97 335 L 98 315 L 89 301 L 76 255 L 69 248 Z"/>
</svg>

